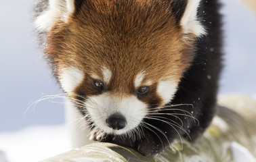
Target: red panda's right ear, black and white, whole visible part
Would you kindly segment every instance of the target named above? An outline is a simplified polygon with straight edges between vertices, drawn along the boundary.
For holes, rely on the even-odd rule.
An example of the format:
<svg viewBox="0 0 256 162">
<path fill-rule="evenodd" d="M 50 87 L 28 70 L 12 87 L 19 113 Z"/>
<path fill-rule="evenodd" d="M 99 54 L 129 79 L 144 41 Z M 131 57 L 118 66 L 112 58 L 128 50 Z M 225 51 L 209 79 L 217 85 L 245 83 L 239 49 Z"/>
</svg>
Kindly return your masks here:
<svg viewBox="0 0 256 162">
<path fill-rule="evenodd" d="M 173 0 L 172 10 L 184 34 L 192 33 L 196 36 L 206 34 L 205 28 L 197 18 L 198 7 L 201 0 Z"/>
</svg>

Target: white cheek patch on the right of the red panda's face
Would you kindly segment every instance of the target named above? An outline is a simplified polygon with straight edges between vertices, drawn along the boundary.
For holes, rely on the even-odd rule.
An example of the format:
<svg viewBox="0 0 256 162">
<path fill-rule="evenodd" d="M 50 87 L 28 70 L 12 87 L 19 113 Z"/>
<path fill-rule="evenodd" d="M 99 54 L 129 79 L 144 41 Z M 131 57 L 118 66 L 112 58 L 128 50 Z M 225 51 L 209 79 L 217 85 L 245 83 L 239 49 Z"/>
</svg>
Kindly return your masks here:
<svg viewBox="0 0 256 162">
<path fill-rule="evenodd" d="M 177 90 L 177 83 L 167 80 L 158 82 L 157 93 L 163 99 L 163 102 L 169 103 Z"/>
</svg>

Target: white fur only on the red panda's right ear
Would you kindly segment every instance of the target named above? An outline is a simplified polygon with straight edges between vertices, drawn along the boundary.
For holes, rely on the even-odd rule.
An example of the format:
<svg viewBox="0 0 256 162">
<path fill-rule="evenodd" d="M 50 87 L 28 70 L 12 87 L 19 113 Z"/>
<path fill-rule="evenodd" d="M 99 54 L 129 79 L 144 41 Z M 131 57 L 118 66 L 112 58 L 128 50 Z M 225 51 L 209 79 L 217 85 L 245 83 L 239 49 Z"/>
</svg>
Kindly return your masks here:
<svg viewBox="0 0 256 162">
<path fill-rule="evenodd" d="M 181 21 L 184 28 L 184 33 L 193 33 L 196 36 L 206 34 L 205 28 L 202 26 L 202 24 L 200 24 L 196 17 L 199 5 L 200 0 L 188 0 L 188 4 Z"/>
</svg>

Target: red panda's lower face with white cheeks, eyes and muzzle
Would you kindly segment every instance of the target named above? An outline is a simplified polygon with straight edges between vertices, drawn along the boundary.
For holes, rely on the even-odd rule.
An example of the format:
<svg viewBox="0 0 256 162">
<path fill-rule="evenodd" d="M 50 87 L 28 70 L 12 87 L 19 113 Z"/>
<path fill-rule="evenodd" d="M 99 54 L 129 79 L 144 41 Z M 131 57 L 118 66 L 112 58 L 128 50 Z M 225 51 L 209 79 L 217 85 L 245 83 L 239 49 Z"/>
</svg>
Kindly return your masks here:
<svg viewBox="0 0 256 162">
<path fill-rule="evenodd" d="M 146 72 L 135 76 L 122 76 L 126 82 L 118 82 L 115 72 L 103 67 L 102 75 L 84 74 L 71 67 L 60 74 L 62 88 L 82 103 L 96 128 L 108 134 L 124 134 L 137 128 L 150 112 L 169 103 L 177 88 L 174 80 L 146 80 Z M 71 79 L 70 79 L 71 78 Z M 130 82 L 129 82 L 130 80 Z M 72 85 L 72 86 L 70 86 Z M 108 119 L 114 115 L 123 119 L 124 125 L 111 125 Z"/>
</svg>

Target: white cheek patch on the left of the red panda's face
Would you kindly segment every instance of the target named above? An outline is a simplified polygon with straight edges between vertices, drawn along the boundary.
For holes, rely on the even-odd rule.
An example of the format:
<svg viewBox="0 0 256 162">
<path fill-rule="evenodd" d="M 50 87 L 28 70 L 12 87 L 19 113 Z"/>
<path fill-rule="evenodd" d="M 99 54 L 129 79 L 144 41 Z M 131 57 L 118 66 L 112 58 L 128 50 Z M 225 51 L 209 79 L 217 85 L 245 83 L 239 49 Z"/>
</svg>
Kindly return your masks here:
<svg viewBox="0 0 256 162">
<path fill-rule="evenodd" d="M 71 66 L 62 70 L 60 84 L 64 91 L 70 94 L 83 81 L 83 78 L 83 72 Z"/>
</svg>

